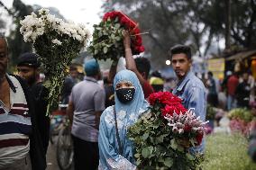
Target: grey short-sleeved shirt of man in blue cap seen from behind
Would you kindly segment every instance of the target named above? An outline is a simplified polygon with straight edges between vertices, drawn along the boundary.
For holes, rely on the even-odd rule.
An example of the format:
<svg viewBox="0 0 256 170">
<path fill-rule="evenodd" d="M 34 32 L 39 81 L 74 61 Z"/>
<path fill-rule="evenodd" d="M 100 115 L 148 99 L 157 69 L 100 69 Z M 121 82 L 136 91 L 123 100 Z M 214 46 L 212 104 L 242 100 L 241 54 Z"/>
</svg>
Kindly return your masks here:
<svg viewBox="0 0 256 170">
<path fill-rule="evenodd" d="M 86 76 L 85 80 L 75 85 L 70 94 L 70 102 L 74 104 L 72 135 L 79 139 L 97 142 L 95 112 L 105 110 L 105 91 L 96 79 Z"/>
</svg>

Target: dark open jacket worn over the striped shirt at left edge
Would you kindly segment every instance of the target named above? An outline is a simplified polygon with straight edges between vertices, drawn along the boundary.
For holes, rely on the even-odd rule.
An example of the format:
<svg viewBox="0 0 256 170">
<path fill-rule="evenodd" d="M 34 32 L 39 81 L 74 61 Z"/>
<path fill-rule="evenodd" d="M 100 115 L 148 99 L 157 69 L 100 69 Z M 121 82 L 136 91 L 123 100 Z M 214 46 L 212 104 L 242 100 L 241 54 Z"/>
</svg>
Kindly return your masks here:
<svg viewBox="0 0 256 170">
<path fill-rule="evenodd" d="M 6 76 L 7 77 L 7 76 Z M 32 91 L 29 86 L 24 82 L 20 76 L 14 76 L 22 85 L 23 93 L 25 94 L 26 101 L 29 107 L 29 114 L 32 121 L 32 134 L 30 135 L 30 156 L 32 161 L 32 170 L 45 170 L 46 169 L 46 157 L 43 152 L 41 136 L 38 129 L 37 114 L 35 113 L 34 100 L 32 97 Z M 15 91 L 15 86 L 12 81 L 7 77 L 8 83 L 11 89 Z"/>
</svg>

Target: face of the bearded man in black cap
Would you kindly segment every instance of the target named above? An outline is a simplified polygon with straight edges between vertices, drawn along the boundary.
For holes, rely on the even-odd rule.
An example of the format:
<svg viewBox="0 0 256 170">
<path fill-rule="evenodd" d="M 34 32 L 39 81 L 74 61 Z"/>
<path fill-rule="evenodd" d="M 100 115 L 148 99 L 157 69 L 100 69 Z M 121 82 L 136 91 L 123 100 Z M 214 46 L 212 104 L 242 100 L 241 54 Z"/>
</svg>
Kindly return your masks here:
<svg viewBox="0 0 256 170">
<path fill-rule="evenodd" d="M 19 76 L 23 77 L 29 85 L 32 85 L 36 82 L 37 78 L 37 68 L 19 66 L 17 67 Z"/>
</svg>

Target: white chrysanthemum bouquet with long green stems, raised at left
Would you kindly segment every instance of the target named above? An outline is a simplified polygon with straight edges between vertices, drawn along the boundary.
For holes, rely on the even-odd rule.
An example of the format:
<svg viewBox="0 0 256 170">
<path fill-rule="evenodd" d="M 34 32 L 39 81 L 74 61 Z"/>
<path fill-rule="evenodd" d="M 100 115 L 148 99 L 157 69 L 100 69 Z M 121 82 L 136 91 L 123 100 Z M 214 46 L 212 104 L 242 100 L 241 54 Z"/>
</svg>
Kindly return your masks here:
<svg viewBox="0 0 256 170">
<path fill-rule="evenodd" d="M 44 8 L 39 10 L 38 15 L 32 13 L 25 16 L 21 24 L 23 38 L 26 42 L 33 43 L 47 76 L 44 85 L 49 90 L 49 114 L 58 104 L 64 78 L 68 75 L 67 67 L 87 45 L 90 33 L 84 25 L 64 22 Z"/>
</svg>

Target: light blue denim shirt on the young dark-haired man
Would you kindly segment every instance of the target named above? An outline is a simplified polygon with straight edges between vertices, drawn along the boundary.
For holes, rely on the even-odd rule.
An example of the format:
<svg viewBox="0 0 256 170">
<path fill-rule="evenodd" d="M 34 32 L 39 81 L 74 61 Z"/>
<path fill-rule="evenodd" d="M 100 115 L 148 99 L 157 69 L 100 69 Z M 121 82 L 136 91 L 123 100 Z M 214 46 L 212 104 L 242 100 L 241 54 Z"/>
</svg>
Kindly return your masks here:
<svg viewBox="0 0 256 170">
<path fill-rule="evenodd" d="M 202 121 L 206 121 L 206 87 L 192 71 L 178 82 L 173 94 L 181 98 L 185 108 L 194 109 L 196 115 L 200 116 Z"/>
</svg>

